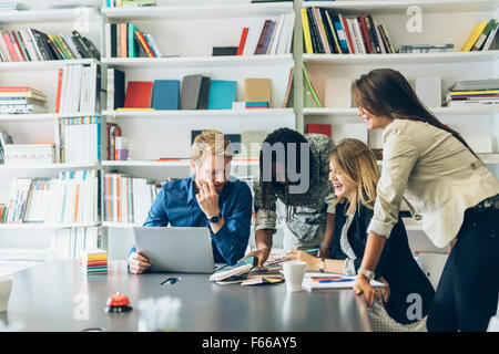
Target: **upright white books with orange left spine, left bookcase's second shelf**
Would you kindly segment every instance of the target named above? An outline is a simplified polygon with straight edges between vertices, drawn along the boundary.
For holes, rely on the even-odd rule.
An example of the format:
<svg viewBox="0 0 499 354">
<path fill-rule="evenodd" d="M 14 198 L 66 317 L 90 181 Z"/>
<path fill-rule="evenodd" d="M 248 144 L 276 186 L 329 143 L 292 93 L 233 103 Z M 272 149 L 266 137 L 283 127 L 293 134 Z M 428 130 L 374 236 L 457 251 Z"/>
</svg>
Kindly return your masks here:
<svg viewBox="0 0 499 354">
<path fill-rule="evenodd" d="M 64 65 L 58 70 L 55 113 L 99 111 L 98 65 Z"/>
</svg>

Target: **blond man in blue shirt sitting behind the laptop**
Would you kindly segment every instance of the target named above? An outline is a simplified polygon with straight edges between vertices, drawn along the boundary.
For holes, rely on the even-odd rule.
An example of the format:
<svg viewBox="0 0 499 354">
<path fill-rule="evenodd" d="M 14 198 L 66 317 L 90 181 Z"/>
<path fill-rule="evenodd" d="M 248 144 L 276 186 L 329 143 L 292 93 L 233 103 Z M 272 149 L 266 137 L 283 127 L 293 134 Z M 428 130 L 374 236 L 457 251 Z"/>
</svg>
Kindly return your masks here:
<svg viewBox="0 0 499 354">
<path fill-rule="evenodd" d="M 208 227 L 215 262 L 235 264 L 247 247 L 253 197 L 244 181 L 230 177 L 232 155 L 231 142 L 222 133 L 196 136 L 191 148 L 195 175 L 165 183 L 144 226 Z M 130 272 L 139 274 L 150 267 L 133 247 Z"/>
</svg>

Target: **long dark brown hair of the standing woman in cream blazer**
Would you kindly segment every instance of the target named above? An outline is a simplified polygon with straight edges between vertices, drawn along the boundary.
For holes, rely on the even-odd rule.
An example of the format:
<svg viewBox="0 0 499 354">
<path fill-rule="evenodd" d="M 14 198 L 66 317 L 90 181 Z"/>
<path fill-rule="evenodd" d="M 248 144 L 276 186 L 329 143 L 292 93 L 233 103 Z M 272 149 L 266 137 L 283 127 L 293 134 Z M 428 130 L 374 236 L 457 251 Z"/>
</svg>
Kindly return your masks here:
<svg viewBox="0 0 499 354">
<path fill-rule="evenodd" d="M 376 116 L 419 121 L 444 129 L 479 158 L 459 133 L 438 121 L 419 101 L 409 82 L 396 70 L 375 69 L 367 75 L 360 75 L 352 84 L 352 97 L 358 107 Z"/>
</svg>

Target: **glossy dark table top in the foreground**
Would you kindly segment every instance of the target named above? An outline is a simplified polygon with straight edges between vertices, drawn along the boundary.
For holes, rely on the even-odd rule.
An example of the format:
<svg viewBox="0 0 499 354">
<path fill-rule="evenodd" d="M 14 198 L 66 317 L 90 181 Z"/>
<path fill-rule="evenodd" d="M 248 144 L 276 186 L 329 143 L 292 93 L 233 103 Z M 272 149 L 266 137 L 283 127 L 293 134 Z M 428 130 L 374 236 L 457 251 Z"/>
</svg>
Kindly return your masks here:
<svg viewBox="0 0 499 354">
<path fill-rule="evenodd" d="M 180 277 L 175 284 L 161 282 Z M 133 310 L 108 314 L 109 295 L 129 296 Z M 125 262 L 111 262 L 109 274 L 85 275 L 77 261 L 51 261 L 13 277 L 7 323 L 26 331 L 136 331 L 139 300 L 180 298 L 177 331 L 294 332 L 370 331 L 367 309 L 352 289 L 288 293 L 284 283 L 221 285 L 207 274 L 129 274 Z M 88 306 L 86 306 L 88 304 Z"/>
</svg>

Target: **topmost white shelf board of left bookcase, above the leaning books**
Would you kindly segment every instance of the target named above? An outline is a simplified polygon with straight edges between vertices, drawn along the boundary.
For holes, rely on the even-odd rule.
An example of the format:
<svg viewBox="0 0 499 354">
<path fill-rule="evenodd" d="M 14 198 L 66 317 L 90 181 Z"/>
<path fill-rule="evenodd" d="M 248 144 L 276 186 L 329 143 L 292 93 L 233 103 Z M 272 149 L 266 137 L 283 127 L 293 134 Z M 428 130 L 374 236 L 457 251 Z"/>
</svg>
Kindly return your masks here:
<svg viewBox="0 0 499 354">
<path fill-rule="evenodd" d="M 49 9 L 27 11 L 0 11 L 0 23 L 29 23 L 29 22 L 74 22 L 85 20 L 100 20 L 101 15 L 95 8 L 80 7 L 74 9 Z"/>
</svg>

